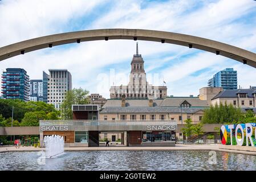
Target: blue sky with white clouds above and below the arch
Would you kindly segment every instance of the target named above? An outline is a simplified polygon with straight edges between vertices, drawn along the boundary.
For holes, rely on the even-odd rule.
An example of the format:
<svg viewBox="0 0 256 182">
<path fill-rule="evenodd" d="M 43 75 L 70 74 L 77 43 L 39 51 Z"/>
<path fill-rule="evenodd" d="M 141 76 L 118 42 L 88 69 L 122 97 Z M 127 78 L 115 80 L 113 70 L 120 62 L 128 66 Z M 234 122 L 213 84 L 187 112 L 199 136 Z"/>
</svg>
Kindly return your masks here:
<svg viewBox="0 0 256 182">
<path fill-rule="evenodd" d="M 200 36 L 256 53 L 256 1 L 0 1 L 0 47 L 63 32 L 140 28 Z M 197 96 L 215 73 L 234 68 L 238 85 L 256 86 L 256 69 L 210 52 L 137 40 L 148 81 L 166 85 L 168 96 Z M 97 40 L 40 49 L 0 61 L 0 70 L 23 68 L 30 79 L 48 69 L 68 69 L 73 88 L 109 98 L 109 88 L 128 83 L 133 40 Z M 166 82 L 166 84 L 163 83 Z"/>
</svg>

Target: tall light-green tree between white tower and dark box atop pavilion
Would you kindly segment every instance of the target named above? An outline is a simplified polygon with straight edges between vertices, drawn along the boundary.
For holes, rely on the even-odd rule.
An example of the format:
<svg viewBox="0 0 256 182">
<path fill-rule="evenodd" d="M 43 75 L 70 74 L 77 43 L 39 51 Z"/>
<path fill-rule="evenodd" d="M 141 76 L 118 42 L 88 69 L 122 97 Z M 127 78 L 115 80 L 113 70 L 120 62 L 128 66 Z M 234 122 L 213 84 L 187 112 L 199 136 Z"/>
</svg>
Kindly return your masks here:
<svg viewBox="0 0 256 182">
<path fill-rule="evenodd" d="M 60 106 L 61 116 L 63 119 L 72 119 L 72 105 L 74 104 L 88 104 L 89 92 L 86 89 L 72 89 L 65 93 L 65 98 Z"/>
</svg>

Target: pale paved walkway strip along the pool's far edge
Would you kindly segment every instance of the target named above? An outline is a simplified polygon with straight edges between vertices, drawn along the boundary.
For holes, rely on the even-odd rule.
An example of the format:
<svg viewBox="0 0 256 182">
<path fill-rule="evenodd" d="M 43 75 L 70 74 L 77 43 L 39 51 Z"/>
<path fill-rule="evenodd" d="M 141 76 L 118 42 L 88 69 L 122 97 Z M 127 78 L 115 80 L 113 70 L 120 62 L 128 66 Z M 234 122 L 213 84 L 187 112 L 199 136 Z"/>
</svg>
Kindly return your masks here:
<svg viewBox="0 0 256 182">
<path fill-rule="evenodd" d="M 176 144 L 175 147 L 65 147 L 65 151 L 111 151 L 111 150 L 213 150 L 213 151 L 223 151 L 223 152 L 233 152 L 238 154 L 249 154 L 256 155 L 256 152 L 250 151 L 239 151 L 239 150 L 226 150 L 219 148 L 220 144 L 194 144 L 194 145 L 185 145 L 185 144 Z M 35 147 L 20 147 L 15 148 L 14 146 L 10 147 L 0 147 L 0 152 L 13 152 L 13 151 L 41 151 L 45 150 L 44 148 L 35 148 Z"/>
</svg>

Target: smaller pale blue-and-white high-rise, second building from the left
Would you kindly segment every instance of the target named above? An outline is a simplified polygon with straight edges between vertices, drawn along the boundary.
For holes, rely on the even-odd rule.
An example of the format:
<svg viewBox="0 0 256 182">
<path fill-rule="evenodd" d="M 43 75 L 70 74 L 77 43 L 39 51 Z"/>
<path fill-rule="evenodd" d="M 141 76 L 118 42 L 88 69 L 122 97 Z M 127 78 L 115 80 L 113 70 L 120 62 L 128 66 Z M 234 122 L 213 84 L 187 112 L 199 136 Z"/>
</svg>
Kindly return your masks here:
<svg viewBox="0 0 256 182">
<path fill-rule="evenodd" d="M 43 101 L 43 80 L 30 80 L 30 101 Z"/>
</svg>

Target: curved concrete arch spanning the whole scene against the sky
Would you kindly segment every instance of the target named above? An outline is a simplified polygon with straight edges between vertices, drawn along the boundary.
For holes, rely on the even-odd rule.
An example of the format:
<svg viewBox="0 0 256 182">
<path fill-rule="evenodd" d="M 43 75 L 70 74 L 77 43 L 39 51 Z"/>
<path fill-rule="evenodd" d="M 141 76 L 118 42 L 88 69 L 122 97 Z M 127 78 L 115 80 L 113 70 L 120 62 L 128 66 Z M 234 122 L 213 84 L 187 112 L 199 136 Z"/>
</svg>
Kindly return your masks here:
<svg viewBox="0 0 256 182">
<path fill-rule="evenodd" d="M 177 44 L 216 53 L 256 68 L 256 53 L 197 36 L 141 29 L 99 29 L 42 36 L 0 48 L 0 61 L 38 49 L 92 40 L 131 39 Z"/>
</svg>

